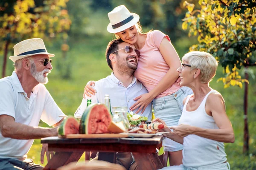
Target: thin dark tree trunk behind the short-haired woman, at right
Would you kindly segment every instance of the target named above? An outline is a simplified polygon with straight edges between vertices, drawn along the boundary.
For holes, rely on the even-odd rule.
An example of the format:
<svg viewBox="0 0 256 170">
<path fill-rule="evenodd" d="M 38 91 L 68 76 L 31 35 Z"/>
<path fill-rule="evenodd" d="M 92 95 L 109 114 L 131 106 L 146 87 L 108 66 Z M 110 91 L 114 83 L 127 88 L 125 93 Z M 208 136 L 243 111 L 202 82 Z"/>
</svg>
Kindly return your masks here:
<svg viewBox="0 0 256 170">
<path fill-rule="evenodd" d="M 248 66 L 245 66 L 245 79 L 249 79 Z M 244 87 L 244 146 L 243 153 L 249 152 L 249 130 L 247 122 L 247 105 L 248 105 L 248 83 L 245 82 Z"/>
</svg>

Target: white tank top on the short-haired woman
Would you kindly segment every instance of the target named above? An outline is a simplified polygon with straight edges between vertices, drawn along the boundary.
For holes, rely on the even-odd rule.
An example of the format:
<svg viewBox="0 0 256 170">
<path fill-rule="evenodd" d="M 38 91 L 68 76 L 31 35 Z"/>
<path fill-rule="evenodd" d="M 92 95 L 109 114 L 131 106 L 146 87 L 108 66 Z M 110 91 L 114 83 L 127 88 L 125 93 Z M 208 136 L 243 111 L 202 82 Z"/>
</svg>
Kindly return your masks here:
<svg viewBox="0 0 256 170">
<path fill-rule="evenodd" d="M 190 97 L 186 99 L 178 125 L 187 124 L 204 129 L 219 129 L 212 116 L 205 111 L 205 103 L 209 94 L 217 92 L 209 91 L 199 107 L 195 111 L 186 111 L 186 105 Z M 186 167 L 207 167 L 218 165 L 227 161 L 224 143 L 212 139 L 206 139 L 197 135 L 188 135 L 183 140 L 182 163 Z"/>
</svg>

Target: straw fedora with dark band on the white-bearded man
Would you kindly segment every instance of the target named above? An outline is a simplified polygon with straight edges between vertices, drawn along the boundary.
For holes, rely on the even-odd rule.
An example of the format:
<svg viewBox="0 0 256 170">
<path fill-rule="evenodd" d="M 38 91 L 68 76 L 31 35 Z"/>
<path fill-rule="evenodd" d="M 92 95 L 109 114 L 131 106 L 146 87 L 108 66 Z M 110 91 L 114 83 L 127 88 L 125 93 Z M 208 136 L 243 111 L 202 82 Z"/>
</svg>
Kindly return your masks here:
<svg viewBox="0 0 256 170">
<path fill-rule="evenodd" d="M 13 62 L 36 54 L 47 54 L 49 57 L 54 57 L 54 54 L 47 52 L 44 41 L 41 38 L 32 38 L 21 41 L 14 45 L 13 51 L 14 56 L 9 57 Z"/>
</svg>

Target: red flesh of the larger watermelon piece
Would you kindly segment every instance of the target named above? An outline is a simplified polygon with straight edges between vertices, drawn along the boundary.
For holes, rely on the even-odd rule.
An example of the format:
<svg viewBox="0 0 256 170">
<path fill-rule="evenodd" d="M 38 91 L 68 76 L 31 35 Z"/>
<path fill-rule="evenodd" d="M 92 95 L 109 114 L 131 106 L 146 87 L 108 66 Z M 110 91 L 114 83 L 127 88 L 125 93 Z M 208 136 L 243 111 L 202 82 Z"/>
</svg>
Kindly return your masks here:
<svg viewBox="0 0 256 170">
<path fill-rule="evenodd" d="M 105 105 L 95 105 L 88 115 L 87 134 L 108 133 L 111 115 Z"/>
</svg>

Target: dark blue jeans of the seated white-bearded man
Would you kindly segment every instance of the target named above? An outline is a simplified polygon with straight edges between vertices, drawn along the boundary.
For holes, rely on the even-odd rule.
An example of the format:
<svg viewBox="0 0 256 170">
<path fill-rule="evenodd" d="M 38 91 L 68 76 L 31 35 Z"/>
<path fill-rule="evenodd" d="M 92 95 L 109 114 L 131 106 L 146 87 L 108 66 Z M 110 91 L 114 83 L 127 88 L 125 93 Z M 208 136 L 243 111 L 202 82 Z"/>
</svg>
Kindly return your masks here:
<svg viewBox="0 0 256 170">
<path fill-rule="evenodd" d="M 44 167 L 34 164 L 32 159 L 0 158 L 0 170 L 43 170 Z"/>
</svg>

